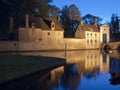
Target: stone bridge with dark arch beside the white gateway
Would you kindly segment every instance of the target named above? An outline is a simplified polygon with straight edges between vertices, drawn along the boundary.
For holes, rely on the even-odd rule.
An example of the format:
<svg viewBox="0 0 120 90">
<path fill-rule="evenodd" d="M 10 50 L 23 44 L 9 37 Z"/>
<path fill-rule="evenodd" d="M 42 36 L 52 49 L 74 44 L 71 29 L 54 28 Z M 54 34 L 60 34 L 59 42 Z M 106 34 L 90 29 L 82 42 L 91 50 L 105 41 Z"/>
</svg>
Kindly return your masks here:
<svg viewBox="0 0 120 90">
<path fill-rule="evenodd" d="M 120 50 L 120 42 L 109 42 L 109 43 L 104 43 L 101 45 L 101 48 L 104 49 L 106 47 L 111 48 L 112 50 Z"/>
</svg>

